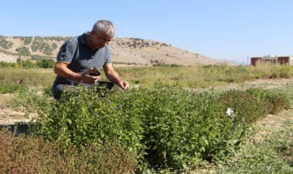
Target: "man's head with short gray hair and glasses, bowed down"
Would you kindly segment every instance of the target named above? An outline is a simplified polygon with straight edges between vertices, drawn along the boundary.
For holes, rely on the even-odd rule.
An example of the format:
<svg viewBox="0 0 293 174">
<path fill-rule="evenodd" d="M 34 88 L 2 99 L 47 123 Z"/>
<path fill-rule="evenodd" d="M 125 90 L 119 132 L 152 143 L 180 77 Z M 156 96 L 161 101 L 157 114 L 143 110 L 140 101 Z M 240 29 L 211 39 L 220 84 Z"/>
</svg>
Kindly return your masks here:
<svg viewBox="0 0 293 174">
<path fill-rule="evenodd" d="M 100 49 L 108 45 L 114 38 L 116 29 L 112 22 L 108 20 L 99 20 L 93 24 L 91 30 L 91 44 L 95 49 Z"/>
</svg>

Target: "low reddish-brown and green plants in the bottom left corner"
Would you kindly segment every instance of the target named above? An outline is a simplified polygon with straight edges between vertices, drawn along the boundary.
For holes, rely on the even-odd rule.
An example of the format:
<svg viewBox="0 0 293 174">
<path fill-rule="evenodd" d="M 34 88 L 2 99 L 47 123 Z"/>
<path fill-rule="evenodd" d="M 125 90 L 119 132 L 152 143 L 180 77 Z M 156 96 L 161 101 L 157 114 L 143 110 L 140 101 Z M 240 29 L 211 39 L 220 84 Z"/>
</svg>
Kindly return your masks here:
<svg viewBox="0 0 293 174">
<path fill-rule="evenodd" d="M 43 137 L 14 136 L 0 129 L 0 173 L 130 173 L 137 166 L 135 154 L 118 145 L 70 145 L 50 143 Z"/>
</svg>

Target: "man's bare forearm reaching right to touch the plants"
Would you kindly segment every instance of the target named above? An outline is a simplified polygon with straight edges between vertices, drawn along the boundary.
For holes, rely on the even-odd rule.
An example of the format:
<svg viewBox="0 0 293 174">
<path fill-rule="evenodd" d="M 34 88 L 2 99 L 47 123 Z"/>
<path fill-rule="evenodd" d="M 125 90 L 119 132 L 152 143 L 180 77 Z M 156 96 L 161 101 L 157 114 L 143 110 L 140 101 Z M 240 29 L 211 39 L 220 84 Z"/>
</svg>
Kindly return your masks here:
<svg viewBox="0 0 293 174">
<path fill-rule="evenodd" d="M 106 74 L 107 79 L 112 81 L 112 83 L 116 84 L 123 90 L 129 88 L 128 81 L 123 81 L 120 79 L 119 74 L 114 70 L 112 63 L 105 63 L 105 65 L 103 65 L 103 70 Z"/>
</svg>

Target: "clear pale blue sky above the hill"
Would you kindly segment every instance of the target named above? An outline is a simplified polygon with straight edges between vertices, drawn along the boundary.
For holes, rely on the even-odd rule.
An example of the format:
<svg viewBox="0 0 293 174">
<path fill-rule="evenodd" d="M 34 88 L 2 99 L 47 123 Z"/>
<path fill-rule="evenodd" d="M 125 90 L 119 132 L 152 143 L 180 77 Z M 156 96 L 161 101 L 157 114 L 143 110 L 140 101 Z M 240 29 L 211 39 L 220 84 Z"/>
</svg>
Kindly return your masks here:
<svg viewBox="0 0 293 174">
<path fill-rule="evenodd" d="M 99 19 L 118 38 L 166 42 L 226 61 L 293 56 L 292 0 L 0 0 L 0 35 L 75 36 Z"/>
</svg>

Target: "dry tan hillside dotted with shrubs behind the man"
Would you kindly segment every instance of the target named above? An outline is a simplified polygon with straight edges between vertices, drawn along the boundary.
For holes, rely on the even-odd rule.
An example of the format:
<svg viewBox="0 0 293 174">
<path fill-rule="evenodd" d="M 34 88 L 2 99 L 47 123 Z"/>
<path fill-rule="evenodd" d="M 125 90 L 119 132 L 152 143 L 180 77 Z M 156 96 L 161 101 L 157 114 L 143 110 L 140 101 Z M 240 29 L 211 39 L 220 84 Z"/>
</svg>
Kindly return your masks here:
<svg viewBox="0 0 293 174">
<path fill-rule="evenodd" d="M 68 37 L 6 37 L 0 36 L 0 61 L 16 62 L 21 55 L 24 59 L 55 59 L 59 48 Z M 151 65 L 165 63 L 177 65 L 216 65 L 218 59 L 188 52 L 168 43 L 140 38 L 114 38 L 110 43 L 114 63 Z"/>
</svg>

